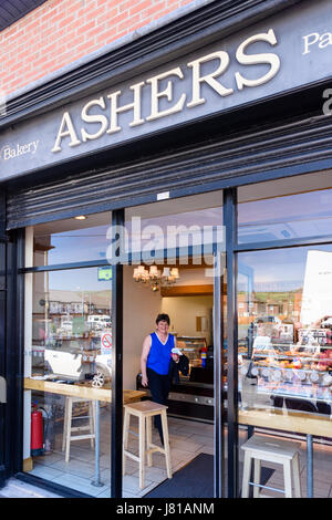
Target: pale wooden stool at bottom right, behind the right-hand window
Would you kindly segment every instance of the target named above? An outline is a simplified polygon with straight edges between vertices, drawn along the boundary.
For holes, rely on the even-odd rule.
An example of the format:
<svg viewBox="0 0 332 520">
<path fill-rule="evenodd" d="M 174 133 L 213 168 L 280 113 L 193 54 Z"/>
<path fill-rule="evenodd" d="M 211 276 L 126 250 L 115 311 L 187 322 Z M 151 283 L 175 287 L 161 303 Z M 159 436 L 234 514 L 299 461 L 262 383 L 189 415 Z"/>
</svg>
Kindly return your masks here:
<svg viewBox="0 0 332 520">
<path fill-rule="evenodd" d="M 260 488 L 268 486 L 260 485 L 260 468 L 261 461 L 277 462 L 283 466 L 284 490 L 277 490 L 283 492 L 286 498 L 292 498 L 292 477 L 294 482 L 294 497 L 301 498 L 301 483 L 300 483 L 300 466 L 299 466 L 299 449 L 300 443 L 290 443 L 271 437 L 263 437 L 261 435 L 253 435 L 241 448 L 245 450 L 245 466 L 242 478 L 242 498 L 249 497 L 249 486 L 253 486 L 253 498 L 260 497 Z M 253 482 L 250 482 L 251 474 L 251 459 L 253 459 Z M 270 488 L 272 489 L 272 488 Z"/>
</svg>

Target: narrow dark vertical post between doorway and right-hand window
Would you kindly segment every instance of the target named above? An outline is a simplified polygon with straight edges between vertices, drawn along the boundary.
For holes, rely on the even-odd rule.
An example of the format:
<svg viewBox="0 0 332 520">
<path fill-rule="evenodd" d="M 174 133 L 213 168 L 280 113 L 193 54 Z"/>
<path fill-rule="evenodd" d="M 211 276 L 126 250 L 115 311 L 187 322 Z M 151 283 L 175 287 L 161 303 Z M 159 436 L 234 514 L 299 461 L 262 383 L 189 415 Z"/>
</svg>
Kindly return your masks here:
<svg viewBox="0 0 332 520">
<path fill-rule="evenodd" d="M 238 493 L 238 341 L 237 341 L 237 190 L 224 191 L 227 267 L 227 426 L 228 426 L 228 498 Z"/>
</svg>

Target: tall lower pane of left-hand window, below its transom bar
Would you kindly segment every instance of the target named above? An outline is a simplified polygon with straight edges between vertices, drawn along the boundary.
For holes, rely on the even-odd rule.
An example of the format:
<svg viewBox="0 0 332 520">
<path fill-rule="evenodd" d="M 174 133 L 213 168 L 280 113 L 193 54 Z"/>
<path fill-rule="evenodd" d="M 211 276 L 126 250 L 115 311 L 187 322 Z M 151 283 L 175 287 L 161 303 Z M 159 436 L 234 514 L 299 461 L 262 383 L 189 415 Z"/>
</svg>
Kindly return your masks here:
<svg viewBox="0 0 332 520">
<path fill-rule="evenodd" d="M 111 412 L 106 401 L 95 402 L 92 389 L 111 395 L 111 267 L 25 274 L 24 464 L 32 475 L 104 497 L 111 496 Z M 38 437 L 32 410 L 42 414 Z M 71 437 L 79 438 L 69 440 L 70 427 Z M 105 458 L 101 488 L 92 483 L 96 435 Z"/>
</svg>

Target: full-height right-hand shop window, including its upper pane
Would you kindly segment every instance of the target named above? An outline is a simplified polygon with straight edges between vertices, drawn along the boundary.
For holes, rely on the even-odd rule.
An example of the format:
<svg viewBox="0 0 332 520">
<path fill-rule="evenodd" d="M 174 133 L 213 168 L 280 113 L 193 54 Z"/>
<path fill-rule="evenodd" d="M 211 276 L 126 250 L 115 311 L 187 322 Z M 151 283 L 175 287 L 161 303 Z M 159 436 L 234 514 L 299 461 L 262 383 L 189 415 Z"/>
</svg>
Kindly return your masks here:
<svg viewBox="0 0 332 520">
<path fill-rule="evenodd" d="M 332 483 L 332 246 L 319 243 L 331 241 L 330 185 L 326 171 L 239 190 L 239 243 L 248 245 L 237 277 L 240 460 L 253 443 L 248 433 L 270 453 L 286 438 L 299 453 L 292 492 L 300 476 L 302 497 L 329 497 Z M 287 239 L 287 248 L 258 249 Z M 270 469 L 257 483 L 268 489 L 255 496 L 282 497 L 287 485 L 290 492 L 282 466 L 263 457 Z"/>
</svg>

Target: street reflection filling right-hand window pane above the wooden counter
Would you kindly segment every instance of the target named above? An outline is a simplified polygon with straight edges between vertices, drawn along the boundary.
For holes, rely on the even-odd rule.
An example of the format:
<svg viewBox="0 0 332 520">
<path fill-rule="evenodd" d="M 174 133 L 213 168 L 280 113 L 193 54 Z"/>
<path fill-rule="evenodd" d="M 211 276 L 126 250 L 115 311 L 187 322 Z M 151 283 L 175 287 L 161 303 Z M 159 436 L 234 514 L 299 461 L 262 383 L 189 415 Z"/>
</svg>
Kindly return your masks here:
<svg viewBox="0 0 332 520">
<path fill-rule="evenodd" d="M 331 247 L 239 254 L 242 407 L 331 413 Z"/>
</svg>

